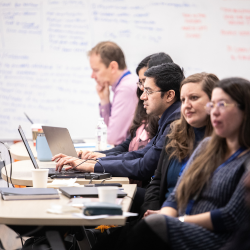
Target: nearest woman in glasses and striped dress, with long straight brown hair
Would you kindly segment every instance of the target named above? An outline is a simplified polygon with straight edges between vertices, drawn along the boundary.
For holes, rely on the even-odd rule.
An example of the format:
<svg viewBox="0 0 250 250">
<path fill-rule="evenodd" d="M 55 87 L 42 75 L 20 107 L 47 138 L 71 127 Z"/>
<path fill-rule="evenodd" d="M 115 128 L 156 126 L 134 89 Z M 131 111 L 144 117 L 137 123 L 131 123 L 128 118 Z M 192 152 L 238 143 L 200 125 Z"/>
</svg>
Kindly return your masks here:
<svg viewBox="0 0 250 250">
<path fill-rule="evenodd" d="M 214 132 L 196 148 L 173 193 L 157 214 L 109 249 L 220 249 L 248 218 L 243 181 L 250 156 L 250 82 L 224 79 L 211 100 L 206 109 Z"/>
</svg>

